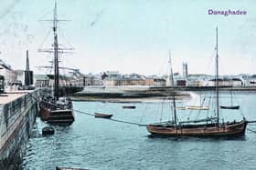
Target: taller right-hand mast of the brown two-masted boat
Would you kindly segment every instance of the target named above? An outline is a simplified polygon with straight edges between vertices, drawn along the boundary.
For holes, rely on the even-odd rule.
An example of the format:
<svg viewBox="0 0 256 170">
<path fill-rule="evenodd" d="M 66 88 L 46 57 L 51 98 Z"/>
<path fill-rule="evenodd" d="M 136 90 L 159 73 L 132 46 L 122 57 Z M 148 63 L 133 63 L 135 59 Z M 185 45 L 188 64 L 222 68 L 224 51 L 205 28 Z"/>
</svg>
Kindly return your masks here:
<svg viewBox="0 0 256 170">
<path fill-rule="evenodd" d="M 216 27 L 216 110 L 217 124 L 219 125 L 219 54 L 218 54 L 218 27 Z"/>
</svg>

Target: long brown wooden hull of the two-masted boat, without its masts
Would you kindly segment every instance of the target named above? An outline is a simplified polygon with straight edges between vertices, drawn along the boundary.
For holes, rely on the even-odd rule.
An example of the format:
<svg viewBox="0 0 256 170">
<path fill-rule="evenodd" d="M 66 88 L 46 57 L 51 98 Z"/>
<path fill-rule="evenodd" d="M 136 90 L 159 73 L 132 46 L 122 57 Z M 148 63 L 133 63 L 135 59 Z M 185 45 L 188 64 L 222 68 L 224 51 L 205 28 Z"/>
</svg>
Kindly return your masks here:
<svg viewBox="0 0 256 170">
<path fill-rule="evenodd" d="M 201 136 L 201 137 L 225 137 L 244 135 L 246 121 L 238 123 L 215 124 L 209 125 L 147 125 L 149 133 L 155 136 Z"/>
</svg>

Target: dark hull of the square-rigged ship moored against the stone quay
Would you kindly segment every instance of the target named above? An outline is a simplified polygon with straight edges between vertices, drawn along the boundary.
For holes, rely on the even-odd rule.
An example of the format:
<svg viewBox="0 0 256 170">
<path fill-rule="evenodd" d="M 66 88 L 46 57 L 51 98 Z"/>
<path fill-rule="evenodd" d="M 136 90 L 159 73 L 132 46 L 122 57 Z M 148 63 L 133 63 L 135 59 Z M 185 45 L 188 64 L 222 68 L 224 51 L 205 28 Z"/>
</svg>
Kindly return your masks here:
<svg viewBox="0 0 256 170">
<path fill-rule="evenodd" d="M 71 125 L 75 118 L 72 109 L 50 109 L 40 104 L 40 116 L 51 125 Z"/>
</svg>

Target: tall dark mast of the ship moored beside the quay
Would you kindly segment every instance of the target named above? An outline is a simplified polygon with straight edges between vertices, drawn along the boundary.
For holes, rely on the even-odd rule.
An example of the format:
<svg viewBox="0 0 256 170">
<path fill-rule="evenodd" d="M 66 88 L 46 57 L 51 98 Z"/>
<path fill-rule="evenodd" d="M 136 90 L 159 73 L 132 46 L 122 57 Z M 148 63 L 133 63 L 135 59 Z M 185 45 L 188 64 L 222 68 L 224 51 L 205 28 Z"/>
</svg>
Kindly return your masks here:
<svg viewBox="0 0 256 170">
<path fill-rule="evenodd" d="M 54 13 L 53 13 L 53 35 L 54 35 L 54 97 L 55 100 L 59 100 L 59 45 L 57 35 L 57 3 L 55 1 Z"/>
</svg>

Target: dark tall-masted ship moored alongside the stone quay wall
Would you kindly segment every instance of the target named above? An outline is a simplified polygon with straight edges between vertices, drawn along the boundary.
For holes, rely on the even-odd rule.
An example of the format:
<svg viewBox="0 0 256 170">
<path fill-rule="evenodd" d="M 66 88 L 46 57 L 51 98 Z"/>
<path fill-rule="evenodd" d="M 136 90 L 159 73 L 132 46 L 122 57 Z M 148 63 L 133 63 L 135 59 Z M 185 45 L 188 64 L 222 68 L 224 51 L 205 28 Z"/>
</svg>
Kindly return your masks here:
<svg viewBox="0 0 256 170">
<path fill-rule="evenodd" d="M 74 122 L 72 102 L 69 97 L 59 96 L 59 52 L 63 53 L 65 49 L 59 48 L 57 24 L 57 3 L 55 2 L 53 12 L 53 48 L 48 50 L 39 50 L 39 52 L 49 52 L 54 54 L 54 95 L 46 93 L 41 96 L 40 115 L 43 121 L 52 125 L 71 125 Z"/>
</svg>

